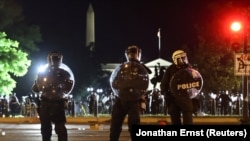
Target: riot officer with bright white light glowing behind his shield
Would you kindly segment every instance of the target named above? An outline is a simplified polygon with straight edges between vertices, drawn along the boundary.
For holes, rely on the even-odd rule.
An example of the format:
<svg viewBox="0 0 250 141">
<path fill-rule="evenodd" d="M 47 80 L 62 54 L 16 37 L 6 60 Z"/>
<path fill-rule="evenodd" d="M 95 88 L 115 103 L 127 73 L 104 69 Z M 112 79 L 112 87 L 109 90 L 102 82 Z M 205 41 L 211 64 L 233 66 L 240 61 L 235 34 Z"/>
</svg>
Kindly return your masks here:
<svg viewBox="0 0 250 141">
<path fill-rule="evenodd" d="M 43 141 L 51 141 L 52 123 L 58 141 L 67 141 L 65 107 L 67 94 L 73 89 L 74 78 L 69 68 L 62 63 L 63 56 L 57 51 L 48 54 L 48 67 L 39 72 L 32 90 L 41 93 L 39 116 Z"/>
</svg>

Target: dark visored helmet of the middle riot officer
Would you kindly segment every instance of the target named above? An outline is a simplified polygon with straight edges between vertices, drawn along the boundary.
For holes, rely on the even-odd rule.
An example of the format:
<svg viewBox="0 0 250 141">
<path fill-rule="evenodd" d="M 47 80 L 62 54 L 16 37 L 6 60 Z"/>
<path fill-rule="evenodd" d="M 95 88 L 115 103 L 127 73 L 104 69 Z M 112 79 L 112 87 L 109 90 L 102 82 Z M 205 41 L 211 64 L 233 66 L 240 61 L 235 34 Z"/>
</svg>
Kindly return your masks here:
<svg viewBox="0 0 250 141">
<path fill-rule="evenodd" d="M 127 61 L 141 61 L 141 49 L 135 45 L 129 46 L 125 50 Z"/>
</svg>

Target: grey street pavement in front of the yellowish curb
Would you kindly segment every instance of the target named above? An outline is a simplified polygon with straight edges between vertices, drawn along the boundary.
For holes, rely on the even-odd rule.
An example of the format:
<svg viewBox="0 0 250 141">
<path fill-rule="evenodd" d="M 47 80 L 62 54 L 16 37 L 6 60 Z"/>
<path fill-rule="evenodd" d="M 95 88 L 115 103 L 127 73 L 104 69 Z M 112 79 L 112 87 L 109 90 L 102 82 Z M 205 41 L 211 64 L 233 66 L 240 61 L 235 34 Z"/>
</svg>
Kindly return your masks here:
<svg viewBox="0 0 250 141">
<path fill-rule="evenodd" d="M 109 126 L 90 126 L 84 124 L 67 124 L 69 141 L 108 141 Z M 124 125 L 120 141 L 129 141 L 127 126 Z M 0 123 L 0 141 L 42 141 L 40 124 Z M 57 141 L 53 131 L 52 141 Z"/>
</svg>

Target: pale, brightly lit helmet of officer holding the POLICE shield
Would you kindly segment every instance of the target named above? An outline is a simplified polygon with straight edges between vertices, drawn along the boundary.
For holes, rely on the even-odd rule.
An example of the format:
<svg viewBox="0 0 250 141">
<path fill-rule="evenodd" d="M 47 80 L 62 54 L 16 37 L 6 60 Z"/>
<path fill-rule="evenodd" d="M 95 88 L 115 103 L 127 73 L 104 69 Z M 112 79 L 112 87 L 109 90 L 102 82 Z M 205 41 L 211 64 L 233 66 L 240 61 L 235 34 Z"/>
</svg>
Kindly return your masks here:
<svg viewBox="0 0 250 141">
<path fill-rule="evenodd" d="M 183 50 L 176 50 L 172 55 L 172 59 L 177 66 L 188 64 L 187 53 Z"/>
</svg>

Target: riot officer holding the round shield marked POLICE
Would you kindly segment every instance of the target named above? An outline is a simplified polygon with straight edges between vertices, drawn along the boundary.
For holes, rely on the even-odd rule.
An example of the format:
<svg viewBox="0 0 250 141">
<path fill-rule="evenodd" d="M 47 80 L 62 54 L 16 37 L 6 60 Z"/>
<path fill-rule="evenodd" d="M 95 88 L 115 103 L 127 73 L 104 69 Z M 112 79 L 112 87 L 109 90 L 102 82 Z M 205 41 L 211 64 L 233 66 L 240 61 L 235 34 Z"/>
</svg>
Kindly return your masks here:
<svg viewBox="0 0 250 141">
<path fill-rule="evenodd" d="M 170 114 L 172 124 L 180 125 L 181 115 L 183 116 L 183 124 L 193 124 L 193 97 L 202 87 L 202 79 L 199 73 L 192 69 L 188 63 L 187 54 L 183 50 L 176 50 L 173 55 L 173 64 L 170 65 L 161 80 L 160 88 L 166 99 L 168 113 Z M 197 74 L 195 77 L 193 74 Z M 198 78 L 197 82 L 196 79 Z M 184 82 L 194 82 L 192 85 L 197 88 L 187 89 Z M 182 89 L 183 88 L 183 89 Z"/>
</svg>

